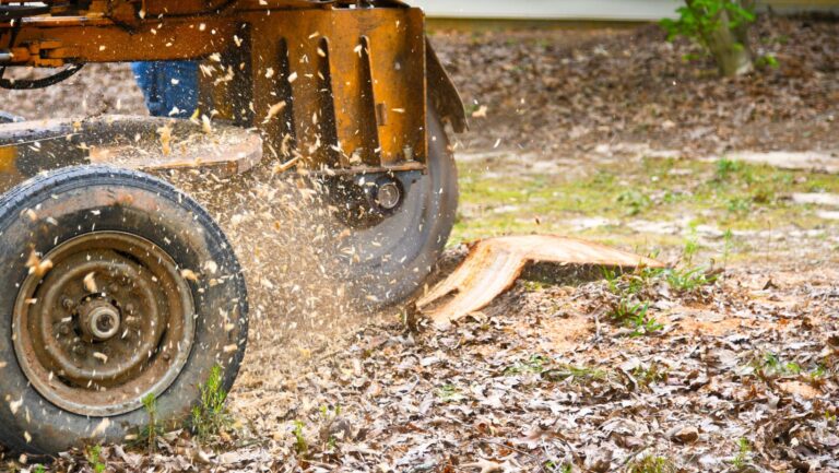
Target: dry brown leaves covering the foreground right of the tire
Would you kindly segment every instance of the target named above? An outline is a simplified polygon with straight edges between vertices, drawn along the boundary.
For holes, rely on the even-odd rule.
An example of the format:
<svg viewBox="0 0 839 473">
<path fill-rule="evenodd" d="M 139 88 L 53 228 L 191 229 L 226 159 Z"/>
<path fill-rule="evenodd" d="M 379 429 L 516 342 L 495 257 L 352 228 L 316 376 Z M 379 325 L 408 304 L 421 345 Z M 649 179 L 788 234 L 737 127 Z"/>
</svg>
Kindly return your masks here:
<svg viewBox="0 0 839 473">
<path fill-rule="evenodd" d="M 226 439 L 199 447 L 176 433 L 153 458 L 108 447 L 108 464 L 553 472 L 619 470 L 654 454 L 688 472 L 732 469 L 737 456 L 757 471 L 837 469 L 839 292 L 829 274 L 810 274 L 806 288 L 772 274 L 777 299 L 802 301 L 790 307 L 766 300 L 756 277 L 768 273 L 730 271 L 702 303 L 659 293 L 651 311 L 667 328 L 638 338 L 596 324 L 600 282 L 519 283 L 449 331 L 367 326 L 298 355 L 299 376 L 279 365 L 275 380 L 246 374 L 234 393 L 246 427 Z M 687 315 L 699 309 L 745 323 L 697 331 Z M 551 328 L 564 320 L 582 321 L 570 346 L 554 343 Z M 252 350 L 282 359 L 263 343 Z M 59 464 L 85 462 L 70 453 Z"/>
</svg>

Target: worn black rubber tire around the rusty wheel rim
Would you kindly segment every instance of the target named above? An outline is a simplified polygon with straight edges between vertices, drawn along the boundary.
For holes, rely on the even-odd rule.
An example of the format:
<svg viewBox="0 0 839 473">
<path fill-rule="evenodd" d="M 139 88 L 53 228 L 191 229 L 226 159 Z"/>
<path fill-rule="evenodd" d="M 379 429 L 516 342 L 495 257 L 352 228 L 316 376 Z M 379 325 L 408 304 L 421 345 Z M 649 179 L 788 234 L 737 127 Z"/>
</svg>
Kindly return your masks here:
<svg viewBox="0 0 839 473">
<path fill-rule="evenodd" d="M 222 367 L 225 390 L 236 379 L 247 342 L 247 291 L 229 243 L 206 211 L 169 184 L 142 173 L 79 166 L 42 175 L 0 198 L 0 442 L 13 450 L 52 454 L 80 442 L 121 441 L 147 425 L 142 409 L 105 422 L 48 402 L 27 382 L 12 343 L 12 307 L 27 275 L 29 248 L 46 253 L 75 236 L 104 230 L 151 240 L 180 269 L 199 273 L 212 260 L 215 274 L 226 275 L 220 284 L 210 284 L 204 275 L 189 282 L 197 317 L 194 343 L 177 378 L 157 398 L 159 418 L 186 419 L 214 365 Z M 99 435 L 90 438 L 94 431 Z"/>
</svg>

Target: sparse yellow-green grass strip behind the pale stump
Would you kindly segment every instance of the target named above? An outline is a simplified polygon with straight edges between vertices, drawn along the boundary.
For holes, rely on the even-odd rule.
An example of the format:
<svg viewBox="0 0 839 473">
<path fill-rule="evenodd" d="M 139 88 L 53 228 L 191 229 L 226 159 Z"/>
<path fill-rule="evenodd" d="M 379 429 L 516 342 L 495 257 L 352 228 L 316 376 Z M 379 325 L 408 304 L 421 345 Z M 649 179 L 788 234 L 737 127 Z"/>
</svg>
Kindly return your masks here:
<svg viewBox="0 0 839 473">
<path fill-rule="evenodd" d="M 636 250 L 709 250 L 700 248 L 695 236 L 686 243 L 677 235 L 627 226 L 638 221 L 688 218 L 693 227 L 709 225 L 729 232 L 725 260 L 747 261 L 751 248 L 735 245 L 734 232 L 837 225 L 788 199 L 793 192 L 839 192 L 835 176 L 725 158 L 595 163 L 581 174 L 529 172 L 498 159 L 459 163 L 459 173 L 461 205 L 450 245 L 541 233 L 575 235 Z"/>
</svg>

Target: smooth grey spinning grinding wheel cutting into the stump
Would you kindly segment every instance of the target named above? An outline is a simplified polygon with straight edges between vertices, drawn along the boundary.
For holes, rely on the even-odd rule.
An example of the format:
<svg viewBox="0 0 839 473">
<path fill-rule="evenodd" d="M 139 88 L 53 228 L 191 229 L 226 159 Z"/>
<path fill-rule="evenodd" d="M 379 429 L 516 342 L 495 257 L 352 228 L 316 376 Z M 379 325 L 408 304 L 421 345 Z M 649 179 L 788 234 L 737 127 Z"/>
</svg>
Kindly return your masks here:
<svg viewBox="0 0 839 473">
<path fill-rule="evenodd" d="M 442 123 L 430 104 L 428 108 L 427 174 L 411 187 L 394 215 L 352 236 L 352 245 L 370 255 L 350 264 L 344 277 L 351 281 L 354 301 L 369 309 L 411 297 L 434 270 L 454 225 L 458 168 Z"/>
</svg>

